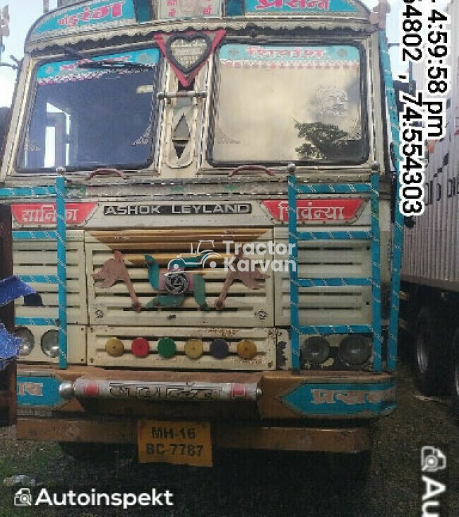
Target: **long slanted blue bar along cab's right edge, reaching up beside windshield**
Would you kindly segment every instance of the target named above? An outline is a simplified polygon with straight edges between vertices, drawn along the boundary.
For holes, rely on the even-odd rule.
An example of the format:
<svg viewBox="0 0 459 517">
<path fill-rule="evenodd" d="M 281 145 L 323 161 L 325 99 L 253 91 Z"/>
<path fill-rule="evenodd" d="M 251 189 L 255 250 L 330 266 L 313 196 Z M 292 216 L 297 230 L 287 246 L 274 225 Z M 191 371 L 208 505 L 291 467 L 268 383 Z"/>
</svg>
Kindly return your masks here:
<svg viewBox="0 0 459 517">
<path fill-rule="evenodd" d="M 397 173 L 397 187 L 395 192 L 395 221 L 393 228 L 393 256 L 392 256 L 392 277 L 391 277 L 391 313 L 389 316 L 389 337 L 388 337 L 388 371 L 395 370 L 397 362 L 397 339 L 398 339 L 398 313 L 400 310 L 400 269 L 403 256 L 403 215 L 400 212 L 400 134 L 398 130 L 398 112 L 393 89 L 393 78 L 391 73 L 391 59 L 389 58 L 387 36 L 384 30 L 380 30 L 379 49 L 381 52 L 381 64 L 383 66 L 384 83 L 386 86 L 386 98 L 388 103 L 389 117 L 391 122 L 392 141 L 394 145 L 395 170 Z"/>
</svg>

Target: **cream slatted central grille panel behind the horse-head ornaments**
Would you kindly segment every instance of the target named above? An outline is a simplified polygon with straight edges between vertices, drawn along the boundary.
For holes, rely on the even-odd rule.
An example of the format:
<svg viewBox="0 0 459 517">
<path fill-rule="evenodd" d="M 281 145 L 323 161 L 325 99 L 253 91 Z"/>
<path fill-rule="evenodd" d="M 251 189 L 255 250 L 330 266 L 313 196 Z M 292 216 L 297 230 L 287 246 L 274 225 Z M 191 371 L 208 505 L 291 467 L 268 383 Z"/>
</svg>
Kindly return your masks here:
<svg viewBox="0 0 459 517">
<path fill-rule="evenodd" d="M 223 240 L 246 243 L 254 240 L 269 240 L 271 230 L 244 229 L 241 231 L 222 230 L 132 230 L 93 231 L 86 235 L 86 260 L 88 269 L 88 306 L 90 323 L 94 325 L 166 325 L 166 326 L 212 326 L 212 327 L 270 327 L 274 322 L 273 279 L 260 281 L 261 289 L 249 289 L 242 282 L 235 281 L 229 288 L 224 310 L 215 310 L 215 301 L 220 295 L 227 272 L 223 269 L 225 245 Z M 200 310 L 193 298 L 187 294 L 182 306 L 177 308 L 145 308 L 158 293 L 150 285 L 145 254 L 152 255 L 163 271 L 169 260 L 180 253 L 189 253 L 199 240 L 213 240 L 211 248 L 220 253 L 215 269 L 203 269 L 206 302 L 210 310 Z M 210 243 L 209 243 L 210 244 Z M 129 276 L 133 282 L 143 309 L 136 313 L 131 308 L 131 298 L 126 286 L 119 282 L 109 289 L 95 285 L 90 276 L 114 256 L 114 250 L 124 255 Z M 227 255 L 230 257 L 231 255 Z M 246 255 L 251 259 L 263 259 L 256 255 Z M 191 272 L 192 270 L 190 270 Z M 197 271 L 197 270 L 196 270 Z"/>
</svg>

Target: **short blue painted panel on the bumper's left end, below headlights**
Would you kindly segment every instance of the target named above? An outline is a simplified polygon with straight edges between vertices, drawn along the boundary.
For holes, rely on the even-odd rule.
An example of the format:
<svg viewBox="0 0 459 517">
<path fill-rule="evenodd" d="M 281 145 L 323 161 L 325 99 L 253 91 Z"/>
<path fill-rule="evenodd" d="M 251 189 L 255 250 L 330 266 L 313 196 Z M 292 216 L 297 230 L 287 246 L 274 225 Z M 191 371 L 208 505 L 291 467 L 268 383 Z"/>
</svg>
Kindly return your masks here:
<svg viewBox="0 0 459 517">
<path fill-rule="evenodd" d="M 61 381 L 55 377 L 18 376 L 18 405 L 57 407 L 66 401 L 59 395 Z"/>
</svg>

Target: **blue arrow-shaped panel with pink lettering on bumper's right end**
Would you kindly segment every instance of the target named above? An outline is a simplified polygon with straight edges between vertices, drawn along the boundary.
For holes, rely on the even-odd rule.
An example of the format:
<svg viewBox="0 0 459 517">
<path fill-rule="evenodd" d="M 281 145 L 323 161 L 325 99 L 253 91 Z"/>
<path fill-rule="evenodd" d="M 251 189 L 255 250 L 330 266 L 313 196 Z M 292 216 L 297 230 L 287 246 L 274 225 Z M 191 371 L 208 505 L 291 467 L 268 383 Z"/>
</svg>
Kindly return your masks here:
<svg viewBox="0 0 459 517">
<path fill-rule="evenodd" d="M 396 406 L 395 380 L 387 383 L 302 384 L 281 400 L 307 416 L 386 414 Z"/>
</svg>

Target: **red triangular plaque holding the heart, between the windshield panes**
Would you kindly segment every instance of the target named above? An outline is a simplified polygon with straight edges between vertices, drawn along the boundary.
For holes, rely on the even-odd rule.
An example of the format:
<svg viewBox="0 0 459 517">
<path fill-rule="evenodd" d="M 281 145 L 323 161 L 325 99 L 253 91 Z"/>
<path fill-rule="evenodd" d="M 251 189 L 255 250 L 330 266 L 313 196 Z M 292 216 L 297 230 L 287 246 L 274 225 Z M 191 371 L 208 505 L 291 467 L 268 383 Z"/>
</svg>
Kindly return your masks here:
<svg viewBox="0 0 459 517">
<path fill-rule="evenodd" d="M 155 41 L 185 88 L 225 35 L 225 30 L 196 33 L 155 34 Z"/>
</svg>

